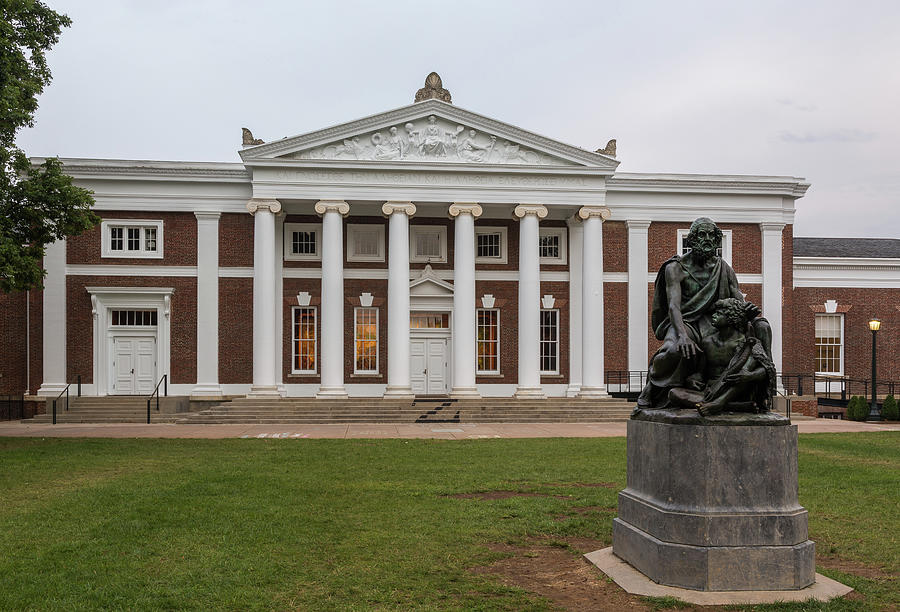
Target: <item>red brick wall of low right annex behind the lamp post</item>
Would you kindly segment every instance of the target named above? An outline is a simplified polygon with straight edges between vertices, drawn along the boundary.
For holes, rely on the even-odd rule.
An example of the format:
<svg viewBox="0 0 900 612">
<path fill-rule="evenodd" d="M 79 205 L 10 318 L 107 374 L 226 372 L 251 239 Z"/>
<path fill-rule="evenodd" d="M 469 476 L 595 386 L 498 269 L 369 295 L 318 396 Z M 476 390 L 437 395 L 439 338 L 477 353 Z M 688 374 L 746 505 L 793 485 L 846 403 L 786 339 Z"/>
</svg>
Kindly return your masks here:
<svg viewBox="0 0 900 612">
<path fill-rule="evenodd" d="M 870 319 L 881 319 L 878 332 L 878 378 L 900 380 L 900 288 L 828 289 L 798 287 L 793 291 L 793 311 L 785 312 L 784 345 L 787 359 L 784 371 L 815 371 L 814 307 L 836 300 L 844 313 L 844 375 L 870 378 L 872 375 L 872 332 Z"/>
</svg>

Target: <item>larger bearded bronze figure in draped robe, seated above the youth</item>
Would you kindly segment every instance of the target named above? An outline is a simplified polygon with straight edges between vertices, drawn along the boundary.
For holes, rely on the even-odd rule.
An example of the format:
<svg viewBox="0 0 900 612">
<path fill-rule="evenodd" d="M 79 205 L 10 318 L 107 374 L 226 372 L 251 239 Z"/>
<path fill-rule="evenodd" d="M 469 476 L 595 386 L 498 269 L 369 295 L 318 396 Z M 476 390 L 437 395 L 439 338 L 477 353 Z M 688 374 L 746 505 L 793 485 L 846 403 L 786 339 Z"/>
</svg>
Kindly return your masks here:
<svg viewBox="0 0 900 612">
<path fill-rule="evenodd" d="M 650 359 L 647 385 L 638 397 L 636 412 L 669 407 L 670 401 L 677 399 L 677 393 L 675 397 L 669 395 L 672 389 L 705 392 L 710 384 L 700 345 L 717 333 L 713 310 L 719 300 L 727 298 L 743 303 L 734 270 L 717 254 L 721 241 L 722 232 L 711 219 L 697 219 L 687 237 L 690 251 L 663 263 L 656 276 L 651 322 L 663 344 Z M 767 352 L 771 351 L 768 321 L 756 317 L 756 306 L 743 308 L 747 319 L 752 320 L 748 330 Z"/>
</svg>

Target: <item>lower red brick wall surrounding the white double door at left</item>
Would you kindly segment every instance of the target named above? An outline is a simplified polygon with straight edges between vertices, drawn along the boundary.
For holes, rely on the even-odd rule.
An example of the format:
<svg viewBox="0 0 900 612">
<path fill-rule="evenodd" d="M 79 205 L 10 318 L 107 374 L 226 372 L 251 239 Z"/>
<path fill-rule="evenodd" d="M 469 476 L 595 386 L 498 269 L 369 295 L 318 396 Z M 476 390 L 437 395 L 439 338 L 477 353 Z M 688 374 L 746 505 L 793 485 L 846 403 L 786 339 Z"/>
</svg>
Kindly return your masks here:
<svg viewBox="0 0 900 612">
<path fill-rule="evenodd" d="M 169 323 L 169 382 L 197 382 L 197 279 L 164 276 L 66 278 L 66 380 L 74 381 L 81 374 L 83 383 L 94 382 L 94 321 L 91 296 L 85 287 L 174 287 Z"/>
</svg>

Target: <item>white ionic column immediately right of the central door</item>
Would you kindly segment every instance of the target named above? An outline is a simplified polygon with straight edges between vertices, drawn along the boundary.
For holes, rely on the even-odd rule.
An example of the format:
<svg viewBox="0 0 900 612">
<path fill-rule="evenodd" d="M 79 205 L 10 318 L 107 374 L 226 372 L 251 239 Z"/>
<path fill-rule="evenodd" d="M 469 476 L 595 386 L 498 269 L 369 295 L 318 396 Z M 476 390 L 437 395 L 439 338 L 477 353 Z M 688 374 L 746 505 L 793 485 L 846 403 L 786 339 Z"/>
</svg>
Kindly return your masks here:
<svg viewBox="0 0 900 612">
<path fill-rule="evenodd" d="M 475 386 L 475 219 L 481 206 L 454 202 L 453 221 L 453 389 L 451 397 L 480 397 Z"/>
</svg>

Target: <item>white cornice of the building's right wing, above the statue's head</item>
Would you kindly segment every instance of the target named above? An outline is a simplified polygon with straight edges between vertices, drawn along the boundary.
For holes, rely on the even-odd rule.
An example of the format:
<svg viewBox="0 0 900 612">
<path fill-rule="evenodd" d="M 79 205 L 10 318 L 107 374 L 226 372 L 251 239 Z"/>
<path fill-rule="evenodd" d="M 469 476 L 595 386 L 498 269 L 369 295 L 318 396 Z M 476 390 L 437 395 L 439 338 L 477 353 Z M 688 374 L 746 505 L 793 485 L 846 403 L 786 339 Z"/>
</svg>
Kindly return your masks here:
<svg viewBox="0 0 900 612">
<path fill-rule="evenodd" d="M 793 176 L 733 174 L 644 174 L 620 172 L 606 181 L 608 191 L 742 193 L 801 198 L 809 183 Z"/>
</svg>

